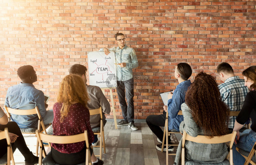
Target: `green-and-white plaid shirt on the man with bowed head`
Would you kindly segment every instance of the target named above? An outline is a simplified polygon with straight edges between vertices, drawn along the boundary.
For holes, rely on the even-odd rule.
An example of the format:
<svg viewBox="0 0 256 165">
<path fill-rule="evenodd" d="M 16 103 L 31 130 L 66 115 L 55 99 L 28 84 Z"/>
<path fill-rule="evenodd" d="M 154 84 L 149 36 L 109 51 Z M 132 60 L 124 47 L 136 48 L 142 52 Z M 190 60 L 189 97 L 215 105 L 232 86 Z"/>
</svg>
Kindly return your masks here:
<svg viewBox="0 0 256 165">
<path fill-rule="evenodd" d="M 243 106 L 244 98 L 249 92 L 247 86 L 244 86 L 244 80 L 238 76 L 228 78 L 223 84 L 219 85 L 222 101 L 225 102 L 230 111 L 240 111 Z M 236 116 L 229 117 L 228 127 L 234 128 Z"/>
</svg>

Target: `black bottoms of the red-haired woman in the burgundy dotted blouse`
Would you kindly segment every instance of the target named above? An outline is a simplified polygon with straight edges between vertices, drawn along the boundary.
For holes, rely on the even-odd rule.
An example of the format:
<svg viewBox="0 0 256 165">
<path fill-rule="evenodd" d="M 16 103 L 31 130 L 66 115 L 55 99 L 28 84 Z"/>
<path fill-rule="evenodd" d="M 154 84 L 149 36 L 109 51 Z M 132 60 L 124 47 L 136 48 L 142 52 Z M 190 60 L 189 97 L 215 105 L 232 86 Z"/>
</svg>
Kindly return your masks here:
<svg viewBox="0 0 256 165">
<path fill-rule="evenodd" d="M 91 145 L 91 144 L 90 144 Z M 92 155 L 93 149 L 89 147 L 89 152 Z M 85 162 L 86 143 L 84 148 L 76 153 L 61 153 L 51 147 L 51 156 L 57 164 L 75 165 Z M 90 156 L 90 155 L 89 155 Z"/>
</svg>

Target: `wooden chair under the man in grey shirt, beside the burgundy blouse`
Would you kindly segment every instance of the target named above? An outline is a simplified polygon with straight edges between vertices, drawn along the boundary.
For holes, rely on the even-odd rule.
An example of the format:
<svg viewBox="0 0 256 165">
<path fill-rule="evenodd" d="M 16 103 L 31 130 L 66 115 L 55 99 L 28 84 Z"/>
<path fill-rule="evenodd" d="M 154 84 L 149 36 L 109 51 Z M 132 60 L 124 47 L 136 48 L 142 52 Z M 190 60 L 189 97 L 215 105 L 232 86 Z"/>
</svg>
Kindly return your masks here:
<svg viewBox="0 0 256 165">
<path fill-rule="evenodd" d="M 102 142 L 103 142 L 103 149 L 104 149 L 104 153 L 106 153 L 106 148 L 105 148 L 105 137 L 104 137 L 104 126 L 103 126 L 103 121 L 102 121 L 102 107 L 100 106 L 98 109 L 92 109 L 89 110 L 90 111 L 90 116 L 92 115 L 97 115 L 100 114 L 100 132 L 93 132 L 94 134 L 97 134 L 100 136 L 100 145 L 95 145 L 93 147 L 99 147 L 99 155 L 95 155 L 95 156 L 99 156 L 100 159 L 102 159 Z"/>
</svg>

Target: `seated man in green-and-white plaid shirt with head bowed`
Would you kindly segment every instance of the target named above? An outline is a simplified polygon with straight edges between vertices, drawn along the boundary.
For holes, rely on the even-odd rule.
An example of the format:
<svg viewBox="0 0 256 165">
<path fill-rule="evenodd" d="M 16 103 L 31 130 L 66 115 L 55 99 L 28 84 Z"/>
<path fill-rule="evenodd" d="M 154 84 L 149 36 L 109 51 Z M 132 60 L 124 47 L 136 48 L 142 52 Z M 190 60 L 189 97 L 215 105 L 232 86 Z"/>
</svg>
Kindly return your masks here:
<svg viewBox="0 0 256 165">
<path fill-rule="evenodd" d="M 230 111 L 240 111 L 243 106 L 244 98 L 249 92 L 248 88 L 244 86 L 244 80 L 234 75 L 234 71 L 228 63 L 219 64 L 217 73 L 221 81 L 224 82 L 219 85 L 222 101 L 229 106 Z M 228 129 L 230 133 L 233 132 L 235 118 L 236 116 L 229 117 Z"/>
</svg>

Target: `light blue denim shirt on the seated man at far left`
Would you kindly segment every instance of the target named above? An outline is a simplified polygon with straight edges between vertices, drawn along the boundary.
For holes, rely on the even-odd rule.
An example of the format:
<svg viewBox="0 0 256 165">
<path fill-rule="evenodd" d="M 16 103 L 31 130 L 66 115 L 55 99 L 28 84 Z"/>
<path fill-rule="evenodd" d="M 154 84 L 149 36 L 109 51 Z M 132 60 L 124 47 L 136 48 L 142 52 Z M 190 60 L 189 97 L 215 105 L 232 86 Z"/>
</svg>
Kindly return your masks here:
<svg viewBox="0 0 256 165">
<path fill-rule="evenodd" d="M 8 88 L 4 105 L 20 110 L 33 109 L 38 106 L 41 117 L 43 118 L 46 114 L 43 92 L 36 89 L 33 84 L 29 83 L 20 83 Z M 11 120 L 15 121 L 20 128 L 37 128 L 38 125 L 37 114 L 11 114 Z"/>
</svg>

